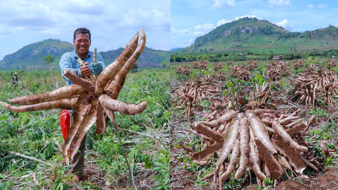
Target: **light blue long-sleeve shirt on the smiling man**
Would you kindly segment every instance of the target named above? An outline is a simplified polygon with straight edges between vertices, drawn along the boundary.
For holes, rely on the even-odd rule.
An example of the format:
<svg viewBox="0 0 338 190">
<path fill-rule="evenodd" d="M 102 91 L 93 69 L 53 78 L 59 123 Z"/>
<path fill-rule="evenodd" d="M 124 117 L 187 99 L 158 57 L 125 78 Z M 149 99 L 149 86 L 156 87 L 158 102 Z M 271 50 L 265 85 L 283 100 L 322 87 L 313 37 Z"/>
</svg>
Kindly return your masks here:
<svg viewBox="0 0 338 190">
<path fill-rule="evenodd" d="M 65 54 L 62 55 L 60 62 L 59 62 L 59 66 L 61 68 L 61 76 L 66 80 L 66 85 L 73 85 L 74 82 L 72 82 L 69 78 L 67 78 L 63 73 L 65 69 L 69 69 L 70 71 L 72 71 L 73 73 L 75 73 L 78 77 L 82 77 L 81 71 L 80 71 L 80 65 L 77 63 L 77 59 L 79 58 L 79 56 L 76 54 L 75 50 L 71 51 L 71 52 L 67 52 Z M 103 62 L 103 58 L 102 56 L 97 53 L 96 54 L 96 58 L 97 58 L 97 63 L 100 63 L 102 65 L 102 68 L 104 69 L 106 67 L 106 65 Z M 93 70 L 92 66 L 90 63 L 93 62 L 93 52 L 92 51 L 88 51 L 88 54 L 86 56 L 86 58 L 82 59 L 83 62 L 88 62 L 88 67 Z"/>
</svg>

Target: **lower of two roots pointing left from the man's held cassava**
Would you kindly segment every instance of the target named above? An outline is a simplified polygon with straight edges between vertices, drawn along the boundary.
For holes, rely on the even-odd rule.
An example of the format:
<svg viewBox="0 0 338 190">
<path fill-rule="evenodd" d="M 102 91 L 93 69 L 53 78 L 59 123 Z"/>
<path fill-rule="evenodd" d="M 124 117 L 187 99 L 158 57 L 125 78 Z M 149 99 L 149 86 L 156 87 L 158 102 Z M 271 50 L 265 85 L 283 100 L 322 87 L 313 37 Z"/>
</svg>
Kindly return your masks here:
<svg viewBox="0 0 338 190">
<path fill-rule="evenodd" d="M 0 105 L 12 112 L 33 112 L 50 109 L 74 110 L 77 98 L 65 98 L 62 100 L 43 102 L 33 105 L 13 106 L 0 101 Z"/>
</svg>

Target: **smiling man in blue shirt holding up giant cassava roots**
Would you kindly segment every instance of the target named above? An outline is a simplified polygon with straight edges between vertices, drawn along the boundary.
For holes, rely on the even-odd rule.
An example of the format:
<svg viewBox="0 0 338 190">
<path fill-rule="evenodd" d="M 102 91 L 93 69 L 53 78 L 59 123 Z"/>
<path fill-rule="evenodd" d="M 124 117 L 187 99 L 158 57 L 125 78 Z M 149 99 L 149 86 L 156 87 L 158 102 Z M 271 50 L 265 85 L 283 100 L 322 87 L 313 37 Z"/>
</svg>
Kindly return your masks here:
<svg viewBox="0 0 338 190">
<path fill-rule="evenodd" d="M 89 51 L 91 45 L 91 33 L 87 28 L 78 28 L 74 31 L 73 45 L 74 51 L 67 52 L 62 55 L 59 62 L 61 68 L 61 75 L 66 80 L 66 85 L 72 85 L 69 78 L 64 76 L 64 70 L 69 69 L 74 72 L 78 77 L 88 77 L 91 74 L 100 74 L 106 67 L 103 62 L 102 56 L 97 53 L 97 63 L 93 63 L 93 52 Z M 76 60 L 81 58 L 85 66 L 80 66 Z M 91 64 L 89 64 L 91 63 Z M 73 113 L 71 110 L 70 126 L 73 123 Z M 74 159 L 71 160 L 71 173 L 73 173 L 72 180 L 79 182 L 83 176 L 84 167 L 84 149 L 86 147 L 86 136 L 81 141 L 79 151 L 75 154 Z"/>
</svg>

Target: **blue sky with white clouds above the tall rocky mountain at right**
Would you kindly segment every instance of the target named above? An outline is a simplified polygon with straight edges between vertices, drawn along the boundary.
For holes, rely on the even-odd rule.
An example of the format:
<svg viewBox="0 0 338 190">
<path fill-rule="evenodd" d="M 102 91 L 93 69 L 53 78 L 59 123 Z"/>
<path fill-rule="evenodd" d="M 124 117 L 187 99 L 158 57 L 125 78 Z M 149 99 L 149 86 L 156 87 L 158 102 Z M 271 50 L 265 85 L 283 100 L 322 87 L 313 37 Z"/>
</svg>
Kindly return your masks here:
<svg viewBox="0 0 338 190">
<path fill-rule="evenodd" d="M 289 31 L 338 27 L 338 6 L 331 0 L 171 0 L 171 46 L 187 47 L 219 25 L 257 17 Z"/>
</svg>

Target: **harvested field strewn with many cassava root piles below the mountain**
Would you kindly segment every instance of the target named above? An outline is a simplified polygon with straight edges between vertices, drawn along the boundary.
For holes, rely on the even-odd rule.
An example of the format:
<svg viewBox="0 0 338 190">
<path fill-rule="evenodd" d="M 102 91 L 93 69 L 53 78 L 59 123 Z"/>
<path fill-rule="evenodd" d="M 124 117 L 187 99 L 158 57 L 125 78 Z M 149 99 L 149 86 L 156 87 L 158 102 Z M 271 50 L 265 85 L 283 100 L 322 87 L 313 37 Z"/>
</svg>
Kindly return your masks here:
<svg viewBox="0 0 338 190">
<path fill-rule="evenodd" d="M 336 60 L 171 65 L 170 189 L 338 188 Z"/>
</svg>

